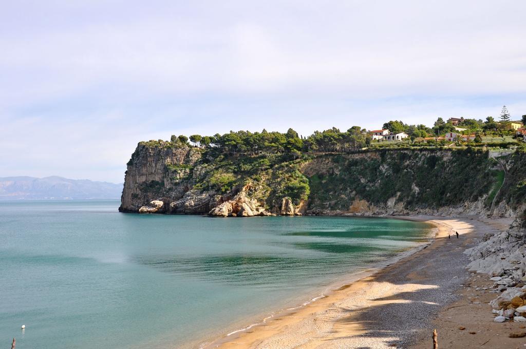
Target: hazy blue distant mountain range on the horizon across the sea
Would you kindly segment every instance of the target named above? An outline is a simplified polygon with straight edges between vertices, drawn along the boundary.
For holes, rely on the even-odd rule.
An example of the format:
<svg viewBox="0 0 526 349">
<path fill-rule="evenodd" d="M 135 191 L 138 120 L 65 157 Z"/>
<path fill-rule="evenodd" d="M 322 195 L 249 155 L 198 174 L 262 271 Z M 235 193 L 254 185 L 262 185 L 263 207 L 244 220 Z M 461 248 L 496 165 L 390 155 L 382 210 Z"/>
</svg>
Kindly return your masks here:
<svg viewBox="0 0 526 349">
<path fill-rule="evenodd" d="M 118 199 L 123 184 L 58 176 L 0 177 L 0 200 L 17 199 Z"/>
</svg>

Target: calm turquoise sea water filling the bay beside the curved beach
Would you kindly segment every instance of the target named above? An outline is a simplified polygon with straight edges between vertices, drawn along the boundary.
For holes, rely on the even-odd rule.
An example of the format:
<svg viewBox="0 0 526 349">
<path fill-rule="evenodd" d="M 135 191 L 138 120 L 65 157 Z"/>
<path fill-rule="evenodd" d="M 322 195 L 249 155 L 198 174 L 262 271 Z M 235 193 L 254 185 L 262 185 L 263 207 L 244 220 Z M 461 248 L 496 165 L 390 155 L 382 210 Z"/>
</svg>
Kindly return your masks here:
<svg viewBox="0 0 526 349">
<path fill-rule="evenodd" d="M 0 203 L 0 346 L 178 347 L 305 301 L 422 241 L 428 224 L 118 213 Z M 22 332 L 20 326 L 26 325 Z"/>
</svg>

